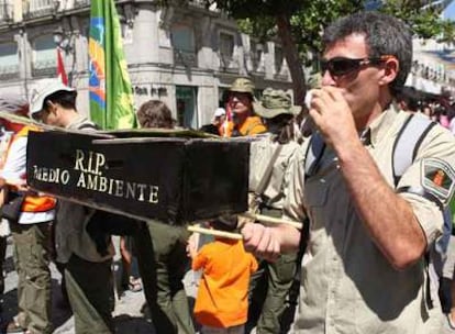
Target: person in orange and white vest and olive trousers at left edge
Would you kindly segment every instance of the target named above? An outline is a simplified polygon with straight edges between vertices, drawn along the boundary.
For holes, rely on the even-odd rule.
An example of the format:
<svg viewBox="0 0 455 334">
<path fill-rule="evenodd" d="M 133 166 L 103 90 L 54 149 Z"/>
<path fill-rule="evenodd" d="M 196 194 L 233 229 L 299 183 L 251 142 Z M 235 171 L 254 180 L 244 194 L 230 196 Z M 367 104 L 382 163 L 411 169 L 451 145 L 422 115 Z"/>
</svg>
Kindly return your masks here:
<svg viewBox="0 0 455 334">
<path fill-rule="evenodd" d="M 27 107 L 24 101 L 16 114 L 26 115 Z M 4 122 L 14 134 L 0 172 L 0 186 L 8 190 L 2 218 L 8 219 L 13 238 L 19 309 L 7 333 L 52 333 L 48 266 L 56 200 L 26 186 L 27 134 L 37 127 Z"/>
</svg>

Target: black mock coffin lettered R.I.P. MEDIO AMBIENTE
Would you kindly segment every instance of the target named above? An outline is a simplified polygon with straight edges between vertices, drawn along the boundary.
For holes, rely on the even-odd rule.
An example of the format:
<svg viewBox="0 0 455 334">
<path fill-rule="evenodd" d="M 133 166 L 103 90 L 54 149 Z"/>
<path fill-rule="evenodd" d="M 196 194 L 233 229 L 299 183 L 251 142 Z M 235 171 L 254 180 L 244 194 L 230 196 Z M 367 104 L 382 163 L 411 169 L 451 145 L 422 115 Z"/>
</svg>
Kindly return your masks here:
<svg viewBox="0 0 455 334">
<path fill-rule="evenodd" d="M 31 132 L 27 182 L 97 209 L 184 224 L 247 209 L 248 143 Z"/>
</svg>

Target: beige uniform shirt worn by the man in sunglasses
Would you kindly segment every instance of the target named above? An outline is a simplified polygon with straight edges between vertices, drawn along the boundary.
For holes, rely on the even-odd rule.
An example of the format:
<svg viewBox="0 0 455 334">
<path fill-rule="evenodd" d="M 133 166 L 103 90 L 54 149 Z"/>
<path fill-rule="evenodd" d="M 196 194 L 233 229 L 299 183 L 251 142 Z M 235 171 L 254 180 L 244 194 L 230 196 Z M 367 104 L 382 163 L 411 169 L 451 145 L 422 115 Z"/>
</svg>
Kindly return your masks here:
<svg viewBox="0 0 455 334">
<path fill-rule="evenodd" d="M 391 187 L 392 147 L 407 116 L 392 105 L 369 129 L 370 143 L 366 147 Z M 426 321 L 424 260 L 401 271 L 390 265 L 357 215 L 330 148 L 325 149 L 319 170 L 306 181 L 303 160 L 299 156 L 293 162 L 284 208 L 289 219 L 301 220 L 303 208 L 310 218 L 295 333 L 434 333 Z M 453 193 L 455 140 L 441 126 L 434 126 L 426 135 L 398 188 L 423 188 L 436 193 L 425 175 L 431 175 L 431 166 L 439 164 L 447 168 L 450 193 L 436 197 L 446 203 Z M 443 226 L 439 205 L 410 192 L 400 196 L 412 205 L 428 243 L 434 242 Z"/>
</svg>

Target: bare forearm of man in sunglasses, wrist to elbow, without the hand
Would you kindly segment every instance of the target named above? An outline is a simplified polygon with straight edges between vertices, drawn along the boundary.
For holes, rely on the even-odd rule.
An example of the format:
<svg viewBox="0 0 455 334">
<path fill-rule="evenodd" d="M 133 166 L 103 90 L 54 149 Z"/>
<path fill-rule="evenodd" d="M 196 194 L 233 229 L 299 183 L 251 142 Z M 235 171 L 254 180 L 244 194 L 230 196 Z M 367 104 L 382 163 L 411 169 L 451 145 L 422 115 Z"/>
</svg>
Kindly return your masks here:
<svg viewBox="0 0 455 334">
<path fill-rule="evenodd" d="M 412 265 L 423 255 L 426 238 L 411 205 L 386 182 L 362 143 L 340 146 L 342 175 L 371 238 L 396 268 Z"/>
</svg>

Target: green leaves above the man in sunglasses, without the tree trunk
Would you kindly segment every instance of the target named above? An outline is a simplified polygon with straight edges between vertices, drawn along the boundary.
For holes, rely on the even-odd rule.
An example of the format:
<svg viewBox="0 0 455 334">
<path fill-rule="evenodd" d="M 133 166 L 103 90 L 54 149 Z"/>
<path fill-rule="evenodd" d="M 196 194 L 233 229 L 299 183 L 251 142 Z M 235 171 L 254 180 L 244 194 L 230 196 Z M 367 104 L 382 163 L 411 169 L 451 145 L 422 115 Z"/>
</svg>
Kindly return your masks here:
<svg viewBox="0 0 455 334">
<path fill-rule="evenodd" d="M 220 7 L 226 10 L 234 19 L 237 19 L 241 31 L 257 37 L 259 41 L 267 41 L 277 35 L 275 24 L 276 13 L 281 9 L 277 4 L 275 11 L 267 7 L 267 10 L 256 9 L 257 2 L 249 3 L 248 13 L 238 14 L 241 2 L 248 0 L 224 0 L 217 1 Z M 234 3 L 235 2 L 235 5 Z M 269 5 L 276 1 L 270 1 Z M 278 1 L 279 3 L 280 1 Z M 281 1 L 297 2 L 300 7 L 287 7 L 285 12 L 290 15 L 292 35 L 299 47 L 300 57 L 306 60 L 308 52 L 318 53 L 321 51 L 321 34 L 328 24 L 340 16 L 364 9 L 363 0 L 300 0 Z M 426 5 L 428 1 L 422 0 L 387 0 L 379 9 L 380 11 L 400 18 L 412 29 L 413 33 L 421 38 L 436 38 L 439 42 L 455 42 L 455 24 L 453 21 L 441 19 L 441 8 Z M 225 7 L 224 7 L 225 5 Z M 271 14 L 269 14 L 271 13 Z"/>
</svg>

